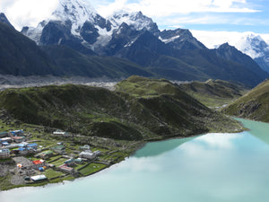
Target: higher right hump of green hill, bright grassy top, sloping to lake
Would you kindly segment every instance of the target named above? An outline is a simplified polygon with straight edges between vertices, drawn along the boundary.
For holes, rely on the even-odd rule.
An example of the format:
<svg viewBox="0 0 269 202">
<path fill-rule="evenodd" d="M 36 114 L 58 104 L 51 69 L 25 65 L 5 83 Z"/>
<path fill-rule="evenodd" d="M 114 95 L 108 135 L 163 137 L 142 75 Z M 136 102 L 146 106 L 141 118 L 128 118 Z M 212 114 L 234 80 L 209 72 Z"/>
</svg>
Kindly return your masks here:
<svg viewBox="0 0 269 202">
<path fill-rule="evenodd" d="M 154 118 L 169 123 L 171 134 L 201 133 L 203 130 L 231 131 L 237 127 L 233 120 L 213 112 L 183 92 L 177 84 L 164 79 L 131 76 L 117 83 L 116 91 L 134 96 L 143 107 L 151 111 Z"/>
</svg>

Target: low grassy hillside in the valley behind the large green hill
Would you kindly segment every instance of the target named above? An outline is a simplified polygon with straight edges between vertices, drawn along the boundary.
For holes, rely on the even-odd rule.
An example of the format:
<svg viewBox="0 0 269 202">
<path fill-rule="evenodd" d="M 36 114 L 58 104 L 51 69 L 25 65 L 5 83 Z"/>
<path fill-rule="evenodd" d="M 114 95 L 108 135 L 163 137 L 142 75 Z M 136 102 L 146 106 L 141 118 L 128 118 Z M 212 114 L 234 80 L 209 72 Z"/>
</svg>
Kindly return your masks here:
<svg viewBox="0 0 269 202">
<path fill-rule="evenodd" d="M 222 80 L 210 79 L 206 82 L 182 83 L 179 87 L 207 107 L 219 108 L 242 96 L 248 91 L 246 86 Z"/>
</svg>

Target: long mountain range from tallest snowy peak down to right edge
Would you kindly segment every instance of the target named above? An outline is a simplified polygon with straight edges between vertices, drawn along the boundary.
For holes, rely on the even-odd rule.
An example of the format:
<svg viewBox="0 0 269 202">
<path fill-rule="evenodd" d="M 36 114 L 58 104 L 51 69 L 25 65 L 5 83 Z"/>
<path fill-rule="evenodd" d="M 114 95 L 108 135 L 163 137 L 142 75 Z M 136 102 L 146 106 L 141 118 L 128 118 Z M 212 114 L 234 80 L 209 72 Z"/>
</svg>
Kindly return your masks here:
<svg viewBox="0 0 269 202">
<path fill-rule="evenodd" d="M 255 86 L 269 76 L 256 71 L 259 67 L 254 63 L 246 66 L 243 60 L 221 57 L 215 50 L 204 47 L 188 30 L 159 31 L 157 24 L 141 12 L 120 12 L 110 17 L 114 19 L 110 22 L 84 1 L 59 3 L 50 19 L 40 22 L 36 29 L 23 28 L 22 33 L 44 48 L 65 46 L 86 57 L 127 59 L 155 77 L 188 81 L 213 78 Z M 85 61 L 83 66 L 88 68 L 86 64 L 89 63 Z M 78 65 L 74 63 L 74 67 L 80 68 Z"/>
</svg>

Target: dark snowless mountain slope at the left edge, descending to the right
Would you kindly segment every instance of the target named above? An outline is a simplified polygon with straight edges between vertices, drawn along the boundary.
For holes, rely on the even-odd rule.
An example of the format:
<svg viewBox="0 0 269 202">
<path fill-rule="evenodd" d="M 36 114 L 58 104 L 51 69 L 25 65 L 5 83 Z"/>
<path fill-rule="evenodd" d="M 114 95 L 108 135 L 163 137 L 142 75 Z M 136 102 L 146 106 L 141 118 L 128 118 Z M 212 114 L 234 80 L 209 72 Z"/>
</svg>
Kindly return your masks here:
<svg viewBox="0 0 269 202">
<path fill-rule="evenodd" d="M 59 75 L 60 72 L 34 41 L 0 22 L 0 74 Z"/>
</svg>

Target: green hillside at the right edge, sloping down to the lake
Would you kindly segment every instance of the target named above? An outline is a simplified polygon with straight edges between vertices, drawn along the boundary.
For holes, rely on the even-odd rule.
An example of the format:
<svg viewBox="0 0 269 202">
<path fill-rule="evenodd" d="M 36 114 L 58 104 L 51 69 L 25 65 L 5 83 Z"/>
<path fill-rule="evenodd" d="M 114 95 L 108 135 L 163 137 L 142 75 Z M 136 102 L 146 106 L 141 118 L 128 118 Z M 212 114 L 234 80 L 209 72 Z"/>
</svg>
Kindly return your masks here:
<svg viewBox="0 0 269 202">
<path fill-rule="evenodd" d="M 269 122 L 269 80 L 232 102 L 223 112 L 240 118 Z"/>
</svg>

